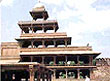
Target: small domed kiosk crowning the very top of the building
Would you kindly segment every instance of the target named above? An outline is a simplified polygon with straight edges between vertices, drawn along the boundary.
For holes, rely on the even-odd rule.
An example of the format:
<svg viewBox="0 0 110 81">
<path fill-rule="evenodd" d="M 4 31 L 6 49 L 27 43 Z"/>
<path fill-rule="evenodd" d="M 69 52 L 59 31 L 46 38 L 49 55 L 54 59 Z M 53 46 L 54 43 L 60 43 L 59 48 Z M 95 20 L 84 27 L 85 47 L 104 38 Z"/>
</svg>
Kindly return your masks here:
<svg viewBox="0 0 110 81">
<path fill-rule="evenodd" d="M 38 18 L 46 20 L 48 18 L 48 13 L 41 3 L 36 4 L 32 11 L 30 11 L 30 14 L 33 17 L 33 20 L 37 20 Z"/>
</svg>

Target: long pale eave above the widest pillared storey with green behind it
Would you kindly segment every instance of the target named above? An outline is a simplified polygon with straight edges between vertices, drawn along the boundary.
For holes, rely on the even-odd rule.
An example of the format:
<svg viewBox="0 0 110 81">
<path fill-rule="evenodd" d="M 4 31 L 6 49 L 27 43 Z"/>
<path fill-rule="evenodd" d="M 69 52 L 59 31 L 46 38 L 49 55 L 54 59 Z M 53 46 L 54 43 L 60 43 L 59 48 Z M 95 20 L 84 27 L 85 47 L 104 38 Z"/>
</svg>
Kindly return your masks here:
<svg viewBox="0 0 110 81">
<path fill-rule="evenodd" d="M 99 55 L 94 51 L 21 52 L 20 55 Z"/>
</svg>

